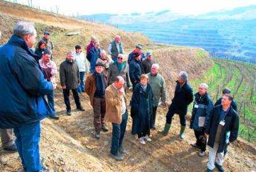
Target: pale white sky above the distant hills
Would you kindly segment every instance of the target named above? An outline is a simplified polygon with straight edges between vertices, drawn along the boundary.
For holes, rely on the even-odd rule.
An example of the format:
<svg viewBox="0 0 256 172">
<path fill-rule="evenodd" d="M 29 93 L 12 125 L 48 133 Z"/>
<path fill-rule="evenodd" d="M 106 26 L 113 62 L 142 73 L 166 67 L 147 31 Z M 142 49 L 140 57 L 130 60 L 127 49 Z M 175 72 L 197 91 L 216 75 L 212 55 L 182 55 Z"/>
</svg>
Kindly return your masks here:
<svg viewBox="0 0 256 172">
<path fill-rule="evenodd" d="M 28 5 L 32 1 L 33 6 L 48 11 L 56 11 L 66 15 L 83 14 L 130 14 L 162 11 L 169 9 L 178 14 L 204 14 L 211 11 L 233 9 L 240 6 L 256 4 L 256 0 L 9 0 Z M 113 5 L 116 4 L 116 5 Z"/>
</svg>

